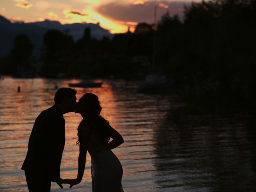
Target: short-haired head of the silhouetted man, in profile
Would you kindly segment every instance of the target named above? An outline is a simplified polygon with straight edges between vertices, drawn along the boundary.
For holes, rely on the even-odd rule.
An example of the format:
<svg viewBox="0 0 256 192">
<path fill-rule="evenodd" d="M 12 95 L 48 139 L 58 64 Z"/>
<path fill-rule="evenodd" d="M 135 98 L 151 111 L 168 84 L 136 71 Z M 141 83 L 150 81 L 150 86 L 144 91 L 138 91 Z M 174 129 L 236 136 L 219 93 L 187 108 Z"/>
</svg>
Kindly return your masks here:
<svg viewBox="0 0 256 192">
<path fill-rule="evenodd" d="M 76 90 L 62 87 L 59 88 L 54 96 L 54 102 L 58 105 L 62 113 L 74 112 L 76 108 Z"/>
</svg>

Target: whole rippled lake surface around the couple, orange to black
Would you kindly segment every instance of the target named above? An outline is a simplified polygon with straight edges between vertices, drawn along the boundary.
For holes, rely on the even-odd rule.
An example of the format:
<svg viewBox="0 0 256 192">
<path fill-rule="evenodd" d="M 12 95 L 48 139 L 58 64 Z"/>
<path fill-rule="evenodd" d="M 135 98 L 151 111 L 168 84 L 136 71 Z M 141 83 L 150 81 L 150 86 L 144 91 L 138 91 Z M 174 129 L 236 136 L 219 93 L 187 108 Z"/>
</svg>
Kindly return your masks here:
<svg viewBox="0 0 256 192">
<path fill-rule="evenodd" d="M 38 114 L 52 106 L 55 84 L 78 80 L 0 81 L 0 191 L 26 192 L 28 139 Z M 125 192 L 255 192 L 256 134 L 234 117 L 187 115 L 172 96 L 136 92 L 137 82 L 105 81 L 102 88 L 76 88 L 99 96 L 102 115 L 124 137 L 113 150 L 122 163 Z M 17 86 L 21 92 L 17 93 Z M 61 177 L 76 178 L 79 114 L 68 113 Z M 52 183 L 52 191 L 91 191 L 90 156 L 84 178 L 72 189 Z"/>
</svg>

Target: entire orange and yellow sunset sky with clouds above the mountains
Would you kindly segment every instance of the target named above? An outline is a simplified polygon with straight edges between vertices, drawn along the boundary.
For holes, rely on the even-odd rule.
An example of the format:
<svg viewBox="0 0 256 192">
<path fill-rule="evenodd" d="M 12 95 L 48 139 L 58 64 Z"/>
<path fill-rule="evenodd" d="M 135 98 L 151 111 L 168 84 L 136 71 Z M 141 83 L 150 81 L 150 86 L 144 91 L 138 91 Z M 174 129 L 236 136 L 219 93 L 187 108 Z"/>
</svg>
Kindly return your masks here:
<svg viewBox="0 0 256 192">
<path fill-rule="evenodd" d="M 154 5 L 159 20 L 167 11 L 182 18 L 184 4 L 190 3 L 191 0 L 0 0 L 0 15 L 12 22 L 99 22 L 111 33 L 119 33 L 126 32 L 128 26 L 133 30 L 138 22 L 153 23 Z"/>
</svg>

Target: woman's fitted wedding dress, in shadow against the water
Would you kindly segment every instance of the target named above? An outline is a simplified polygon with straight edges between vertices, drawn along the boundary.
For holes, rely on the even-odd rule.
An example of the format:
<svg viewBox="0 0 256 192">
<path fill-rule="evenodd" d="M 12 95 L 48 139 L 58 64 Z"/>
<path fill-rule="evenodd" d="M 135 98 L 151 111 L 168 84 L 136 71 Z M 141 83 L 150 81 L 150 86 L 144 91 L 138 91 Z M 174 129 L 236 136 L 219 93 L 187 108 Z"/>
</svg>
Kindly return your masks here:
<svg viewBox="0 0 256 192">
<path fill-rule="evenodd" d="M 123 168 L 115 154 L 100 142 L 96 128 L 84 120 L 78 130 L 88 134 L 87 150 L 91 156 L 92 192 L 124 192 L 122 188 Z"/>
</svg>

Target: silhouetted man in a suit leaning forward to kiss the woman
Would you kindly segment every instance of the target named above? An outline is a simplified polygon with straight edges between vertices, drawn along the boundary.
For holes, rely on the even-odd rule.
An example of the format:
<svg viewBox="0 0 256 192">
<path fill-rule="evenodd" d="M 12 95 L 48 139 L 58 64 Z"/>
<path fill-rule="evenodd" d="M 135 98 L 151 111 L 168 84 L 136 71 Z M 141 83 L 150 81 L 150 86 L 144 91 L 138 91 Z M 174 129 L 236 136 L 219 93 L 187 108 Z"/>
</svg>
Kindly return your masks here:
<svg viewBox="0 0 256 192">
<path fill-rule="evenodd" d="M 51 182 L 62 188 L 60 163 L 65 145 L 63 114 L 74 112 L 76 90 L 60 88 L 55 104 L 36 118 L 28 141 L 28 152 L 22 170 L 25 171 L 29 192 L 50 192 Z"/>
</svg>

